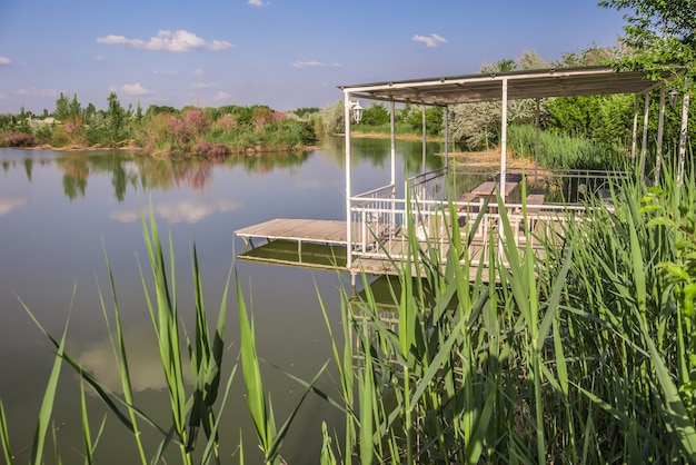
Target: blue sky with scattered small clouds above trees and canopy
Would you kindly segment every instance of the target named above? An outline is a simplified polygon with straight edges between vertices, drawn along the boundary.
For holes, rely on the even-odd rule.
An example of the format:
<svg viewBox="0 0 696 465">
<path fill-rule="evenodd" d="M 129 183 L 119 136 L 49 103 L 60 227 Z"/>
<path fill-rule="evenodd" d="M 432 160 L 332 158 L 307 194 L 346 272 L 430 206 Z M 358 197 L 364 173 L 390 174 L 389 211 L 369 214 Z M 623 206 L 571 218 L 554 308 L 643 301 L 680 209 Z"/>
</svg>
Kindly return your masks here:
<svg viewBox="0 0 696 465">
<path fill-rule="evenodd" d="M 0 0 L 0 113 L 121 103 L 325 107 L 341 85 L 614 46 L 597 0 Z"/>
</svg>

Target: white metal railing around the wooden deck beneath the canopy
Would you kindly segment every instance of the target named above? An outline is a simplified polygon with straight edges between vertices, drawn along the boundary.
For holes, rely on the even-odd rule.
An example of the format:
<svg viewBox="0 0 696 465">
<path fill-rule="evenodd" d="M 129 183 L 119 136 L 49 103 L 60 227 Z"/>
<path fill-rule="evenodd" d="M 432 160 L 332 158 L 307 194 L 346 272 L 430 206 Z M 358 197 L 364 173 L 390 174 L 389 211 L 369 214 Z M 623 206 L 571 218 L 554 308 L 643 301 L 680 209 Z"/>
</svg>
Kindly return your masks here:
<svg viewBox="0 0 696 465">
<path fill-rule="evenodd" d="M 430 250 L 437 247 L 441 254 L 441 263 L 447 260 L 451 240 L 468 244 L 467 259 L 473 266 L 481 261 L 488 265 L 490 247 L 496 247 L 497 257 L 507 263 L 499 245 L 500 241 L 510 239 L 509 234 L 520 248 L 529 244 L 533 248 L 540 249 L 541 236 L 560 236 L 567 222 L 584 217 L 586 207 L 578 200 L 591 195 L 604 198 L 606 192 L 600 190 L 608 191 L 610 179 L 627 176 L 625 172 L 591 170 L 538 172 L 537 182 L 527 188 L 527 194 L 539 195 L 538 189 L 544 189 L 546 194 L 541 196 L 541 201 L 530 202 L 528 197 L 523 202 L 517 192 L 517 196 L 511 196 L 514 200 L 503 202 L 510 225 L 506 233 L 496 196 L 479 196 L 475 199 L 464 196 L 464 200 L 453 200 L 450 204 L 446 194 L 453 189 L 447 185 L 447 174 L 446 169 L 441 169 L 409 178 L 406 188 L 410 192 L 410 205 L 404 198 L 396 198 L 394 185 L 351 197 L 352 257 L 395 261 L 406 258 L 409 253 L 407 225 L 410 222 L 421 247 Z M 479 175 L 486 177 L 486 174 Z M 526 175 L 528 186 L 531 176 Z M 571 190 L 568 191 L 568 188 Z M 455 197 L 457 198 L 463 196 Z M 523 204 L 526 205 L 525 210 Z M 451 233 L 450 205 L 455 208 L 454 218 L 457 219 L 461 233 L 456 238 Z M 411 216 L 410 221 L 407 215 Z"/>
</svg>

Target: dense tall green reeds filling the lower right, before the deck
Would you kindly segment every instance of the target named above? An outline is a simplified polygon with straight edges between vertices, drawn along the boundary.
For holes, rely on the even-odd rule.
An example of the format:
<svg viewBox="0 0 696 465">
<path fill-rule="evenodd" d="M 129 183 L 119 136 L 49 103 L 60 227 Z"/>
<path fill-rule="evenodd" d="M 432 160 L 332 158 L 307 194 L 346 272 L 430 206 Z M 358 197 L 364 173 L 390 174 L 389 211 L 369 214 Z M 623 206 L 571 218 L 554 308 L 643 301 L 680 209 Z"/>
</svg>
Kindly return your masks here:
<svg viewBox="0 0 696 465">
<path fill-rule="evenodd" d="M 447 263 L 437 240 L 424 248 L 410 233 L 391 321 L 364 279 L 344 313 L 355 370 L 334 346 L 341 385 L 358 393 L 342 389 L 346 463 L 694 459 L 694 176 L 659 196 L 612 188 L 613 208 L 590 200 L 560 234 L 537 237 L 543 254 L 515 244 L 499 204 L 505 239 L 500 255 L 488 250 L 488 281 L 446 209 Z"/>
</svg>

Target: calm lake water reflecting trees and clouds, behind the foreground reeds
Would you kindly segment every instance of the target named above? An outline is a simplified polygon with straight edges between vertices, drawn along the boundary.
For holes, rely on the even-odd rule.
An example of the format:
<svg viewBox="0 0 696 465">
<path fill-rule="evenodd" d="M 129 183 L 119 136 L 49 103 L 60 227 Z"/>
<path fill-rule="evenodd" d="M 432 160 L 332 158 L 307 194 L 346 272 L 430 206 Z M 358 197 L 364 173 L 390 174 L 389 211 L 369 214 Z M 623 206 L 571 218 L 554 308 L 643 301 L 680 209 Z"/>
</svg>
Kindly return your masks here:
<svg viewBox="0 0 696 465">
<path fill-rule="evenodd" d="M 274 218 L 345 219 L 342 144 L 342 139 L 330 139 L 312 151 L 232 157 L 223 162 L 165 161 L 127 151 L 0 149 L 0 398 L 18 461 L 31 456 L 38 409 L 53 363 L 50 343 L 23 306 L 56 337 L 70 318 L 68 352 L 113 392 L 120 390 L 99 298 L 101 289 L 112 316 L 105 254 L 113 271 L 136 403 L 161 424 L 170 423 L 139 268 L 140 263 L 145 276 L 150 276 L 141 222 L 150 208 L 162 238 L 171 234 L 177 304 L 186 328 L 193 329 L 190 263 L 195 245 L 211 316 L 217 315 L 233 267 L 253 313 L 259 356 L 309 380 L 330 357 L 317 289 L 338 330 L 339 289 L 350 285 L 350 277 L 236 261 L 243 244 L 233 231 Z M 387 184 L 389 140 L 354 138 L 352 144 L 352 191 Z M 420 171 L 421 146 L 397 141 L 396 148 L 402 181 L 404 176 Z M 439 144 L 428 145 L 429 154 L 441 150 Z M 441 157 L 428 157 L 430 169 L 441 162 Z M 228 299 L 228 368 L 239 348 L 233 289 Z M 302 387 L 270 366 L 264 368 L 264 382 L 280 425 L 299 402 Z M 330 390 L 332 382 L 324 376 L 319 385 Z M 60 386 L 53 409 L 60 455 L 63 463 L 82 462 L 79 384 L 67 366 Z M 247 463 L 260 462 L 243 393 L 239 370 L 223 413 L 221 456 L 226 463 L 238 459 L 231 455 L 237 453 L 240 431 Z M 105 410 L 96 397 L 88 400 L 96 434 Z M 321 421 L 340 437 L 341 418 L 325 400 L 310 396 L 290 429 L 284 457 L 289 463 L 316 463 Z M 151 453 L 158 437 L 148 434 L 146 438 Z M 170 449 L 176 452 L 173 446 Z M 136 457 L 126 427 L 108 415 L 97 463 L 130 463 Z"/>
</svg>

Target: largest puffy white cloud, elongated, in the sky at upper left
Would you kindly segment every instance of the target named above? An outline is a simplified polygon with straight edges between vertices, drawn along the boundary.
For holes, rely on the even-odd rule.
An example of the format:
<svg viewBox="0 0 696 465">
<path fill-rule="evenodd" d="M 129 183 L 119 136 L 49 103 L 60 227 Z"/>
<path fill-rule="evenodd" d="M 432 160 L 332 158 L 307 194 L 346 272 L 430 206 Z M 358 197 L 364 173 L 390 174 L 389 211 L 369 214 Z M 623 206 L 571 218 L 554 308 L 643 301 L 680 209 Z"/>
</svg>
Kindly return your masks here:
<svg viewBox="0 0 696 465">
<path fill-rule="evenodd" d="M 191 51 L 191 50 L 227 50 L 235 46 L 228 41 L 213 40 L 212 42 L 206 42 L 193 32 L 179 29 L 177 31 L 161 30 L 157 37 L 150 38 L 147 42 L 142 39 L 128 39 L 123 36 L 109 34 L 107 37 L 100 37 L 97 42 L 105 43 L 107 46 L 120 46 L 129 47 L 139 50 L 165 50 L 165 51 Z"/>
</svg>

